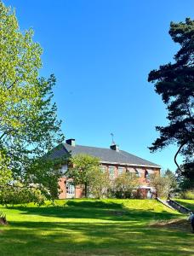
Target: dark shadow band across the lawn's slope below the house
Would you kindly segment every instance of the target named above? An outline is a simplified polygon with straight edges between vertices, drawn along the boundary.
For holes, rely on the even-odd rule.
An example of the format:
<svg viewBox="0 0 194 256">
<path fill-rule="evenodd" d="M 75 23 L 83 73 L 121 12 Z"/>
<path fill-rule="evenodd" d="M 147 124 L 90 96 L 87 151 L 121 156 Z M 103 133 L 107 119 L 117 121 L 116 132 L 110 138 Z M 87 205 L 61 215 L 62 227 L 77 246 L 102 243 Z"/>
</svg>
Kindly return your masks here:
<svg viewBox="0 0 194 256">
<path fill-rule="evenodd" d="M 151 219 L 176 218 L 176 212 L 155 212 L 149 210 L 129 209 L 122 203 L 110 201 L 66 201 L 64 206 L 48 207 L 7 207 L 20 210 L 20 214 L 33 214 L 56 218 L 93 218 L 113 221 L 148 221 Z"/>
</svg>

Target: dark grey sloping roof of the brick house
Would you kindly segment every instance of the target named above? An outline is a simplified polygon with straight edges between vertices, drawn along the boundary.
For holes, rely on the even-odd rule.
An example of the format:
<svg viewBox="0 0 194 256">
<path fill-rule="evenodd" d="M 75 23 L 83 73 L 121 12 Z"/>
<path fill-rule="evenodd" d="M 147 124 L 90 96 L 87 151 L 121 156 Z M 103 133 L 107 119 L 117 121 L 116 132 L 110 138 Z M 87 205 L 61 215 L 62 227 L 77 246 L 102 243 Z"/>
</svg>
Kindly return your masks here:
<svg viewBox="0 0 194 256">
<path fill-rule="evenodd" d="M 53 158 L 58 158 L 63 157 L 66 154 L 71 154 L 71 156 L 76 154 L 90 154 L 94 157 L 98 157 L 101 163 L 117 163 L 128 166 L 154 166 L 160 168 L 157 164 L 144 160 L 134 154 L 129 154 L 123 150 L 116 151 L 111 148 L 95 148 L 81 145 L 76 145 L 74 147 L 67 143 L 63 143 L 57 148 L 54 148 L 51 155 Z"/>
</svg>

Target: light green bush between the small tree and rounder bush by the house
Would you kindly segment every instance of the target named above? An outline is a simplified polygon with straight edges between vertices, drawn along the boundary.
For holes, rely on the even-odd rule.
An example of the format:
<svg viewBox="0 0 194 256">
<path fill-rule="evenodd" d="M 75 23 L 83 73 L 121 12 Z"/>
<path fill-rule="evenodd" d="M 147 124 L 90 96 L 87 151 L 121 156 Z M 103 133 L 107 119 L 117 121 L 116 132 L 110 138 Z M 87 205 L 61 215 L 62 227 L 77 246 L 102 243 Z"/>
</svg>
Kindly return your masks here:
<svg viewBox="0 0 194 256">
<path fill-rule="evenodd" d="M 89 172 L 89 194 L 94 198 L 108 197 L 111 189 L 111 180 L 107 172 L 102 172 L 99 167 Z"/>
</svg>

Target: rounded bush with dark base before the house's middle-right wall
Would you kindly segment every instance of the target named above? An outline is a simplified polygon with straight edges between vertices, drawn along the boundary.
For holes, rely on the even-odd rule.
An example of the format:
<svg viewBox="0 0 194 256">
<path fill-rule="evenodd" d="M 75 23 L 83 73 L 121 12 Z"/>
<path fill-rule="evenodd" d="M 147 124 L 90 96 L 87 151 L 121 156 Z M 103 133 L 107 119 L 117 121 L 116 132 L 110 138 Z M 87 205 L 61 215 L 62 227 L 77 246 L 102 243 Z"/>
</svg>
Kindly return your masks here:
<svg viewBox="0 0 194 256">
<path fill-rule="evenodd" d="M 134 173 L 123 172 L 115 179 L 112 192 L 117 198 L 131 198 L 139 184 L 139 178 Z"/>
</svg>

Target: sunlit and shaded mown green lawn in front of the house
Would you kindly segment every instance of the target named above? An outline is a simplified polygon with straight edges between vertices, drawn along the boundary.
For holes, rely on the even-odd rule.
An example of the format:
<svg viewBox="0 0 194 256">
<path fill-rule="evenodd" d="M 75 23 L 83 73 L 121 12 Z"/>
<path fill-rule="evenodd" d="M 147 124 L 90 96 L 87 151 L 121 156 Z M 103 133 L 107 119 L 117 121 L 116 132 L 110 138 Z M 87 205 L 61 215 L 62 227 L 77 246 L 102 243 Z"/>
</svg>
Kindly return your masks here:
<svg viewBox="0 0 194 256">
<path fill-rule="evenodd" d="M 0 255 L 194 255 L 194 235 L 155 200 L 69 200 L 0 207 Z M 163 223 L 163 225 L 160 225 Z"/>
</svg>

